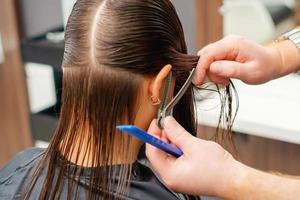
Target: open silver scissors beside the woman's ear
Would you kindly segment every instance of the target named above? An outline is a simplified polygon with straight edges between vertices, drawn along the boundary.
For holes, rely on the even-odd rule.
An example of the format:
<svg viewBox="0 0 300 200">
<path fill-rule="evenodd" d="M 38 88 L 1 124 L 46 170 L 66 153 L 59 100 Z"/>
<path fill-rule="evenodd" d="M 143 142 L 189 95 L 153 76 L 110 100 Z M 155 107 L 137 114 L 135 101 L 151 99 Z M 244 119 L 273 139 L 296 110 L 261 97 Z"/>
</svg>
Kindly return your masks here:
<svg viewBox="0 0 300 200">
<path fill-rule="evenodd" d="M 171 86 L 172 77 L 173 77 L 172 71 L 169 73 L 167 82 L 166 82 L 166 86 L 165 86 L 163 101 L 160 105 L 160 108 L 159 108 L 158 114 L 157 114 L 157 126 L 159 128 L 161 128 L 161 129 L 164 128 L 164 124 L 163 124 L 164 119 L 167 116 L 172 114 L 173 108 L 175 107 L 175 105 L 178 103 L 178 101 L 181 99 L 181 97 L 185 94 L 185 92 L 191 85 L 194 74 L 195 74 L 195 68 L 192 69 L 189 77 L 187 78 L 186 82 L 184 83 L 182 88 L 179 90 L 179 92 L 176 94 L 176 96 L 170 101 L 169 104 L 167 104 L 169 92 L 170 92 L 170 86 Z"/>
</svg>

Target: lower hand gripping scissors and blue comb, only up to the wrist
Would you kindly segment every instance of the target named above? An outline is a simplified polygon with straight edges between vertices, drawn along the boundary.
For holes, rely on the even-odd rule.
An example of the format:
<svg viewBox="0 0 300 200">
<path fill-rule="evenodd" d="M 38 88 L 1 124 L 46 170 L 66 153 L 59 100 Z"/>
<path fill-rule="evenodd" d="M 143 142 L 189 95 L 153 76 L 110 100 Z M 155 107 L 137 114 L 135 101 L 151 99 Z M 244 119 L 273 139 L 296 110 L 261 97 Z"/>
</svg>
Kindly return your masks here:
<svg viewBox="0 0 300 200">
<path fill-rule="evenodd" d="M 168 138 L 184 153 L 176 159 L 147 144 L 146 155 L 165 184 L 176 192 L 223 196 L 239 163 L 217 143 L 193 137 L 174 118 L 167 117 L 164 125 L 161 131 L 153 121 L 148 132 Z"/>
</svg>

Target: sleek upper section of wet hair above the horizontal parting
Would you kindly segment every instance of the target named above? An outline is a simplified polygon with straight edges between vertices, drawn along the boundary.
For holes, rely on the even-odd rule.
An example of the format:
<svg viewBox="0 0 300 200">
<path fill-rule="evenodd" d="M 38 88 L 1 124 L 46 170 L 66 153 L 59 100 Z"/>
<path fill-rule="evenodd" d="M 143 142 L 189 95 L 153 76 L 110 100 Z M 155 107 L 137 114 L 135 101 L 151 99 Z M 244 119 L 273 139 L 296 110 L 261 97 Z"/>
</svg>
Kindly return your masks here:
<svg viewBox="0 0 300 200">
<path fill-rule="evenodd" d="M 191 59 L 186 51 L 183 29 L 169 0 L 79 0 L 67 25 L 64 67 L 149 75 L 171 64 L 174 70 L 187 71 Z"/>
</svg>

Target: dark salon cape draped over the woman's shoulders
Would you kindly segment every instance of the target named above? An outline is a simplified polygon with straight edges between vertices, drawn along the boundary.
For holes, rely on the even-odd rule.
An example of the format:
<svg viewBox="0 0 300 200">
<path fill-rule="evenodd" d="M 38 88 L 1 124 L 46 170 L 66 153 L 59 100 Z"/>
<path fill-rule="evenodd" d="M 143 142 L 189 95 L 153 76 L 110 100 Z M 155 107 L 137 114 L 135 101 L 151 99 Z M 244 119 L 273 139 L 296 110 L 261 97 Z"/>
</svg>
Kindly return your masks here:
<svg viewBox="0 0 300 200">
<path fill-rule="evenodd" d="M 18 153 L 10 163 L 0 170 L 0 199 L 20 199 L 21 191 L 24 188 L 27 181 L 32 177 L 32 172 L 39 163 L 40 159 L 45 153 L 45 149 L 32 148 Z M 75 166 L 75 165 L 74 165 Z M 120 166 L 114 166 L 114 168 Z M 46 170 L 43 170 L 39 176 L 38 182 L 35 185 L 31 196 L 31 199 L 37 199 L 39 192 L 42 188 L 42 183 L 46 176 Z M 82 178 L 85 178 L 84 176 Z M 68 177 L 65 177 L 68 179 Z M 79 180 L 81 181 L 81 180 Z M 66 199 L 67 197 L 67 180 L 66 187 L 62 189 L 60 199 Z M 86 199 L 85 187 L 80 186 L 78 199 Z M 136 200 L 197 200 L 198 197 L 177 194 L 168 189 L 157 178 L 153 171 L 147 166 L 145 160 L 136 161 L 133 164 L 133 173 L 130 180 L 130 189 L 128 197 L 124 199 L 136 199 Z"/>
</svg>

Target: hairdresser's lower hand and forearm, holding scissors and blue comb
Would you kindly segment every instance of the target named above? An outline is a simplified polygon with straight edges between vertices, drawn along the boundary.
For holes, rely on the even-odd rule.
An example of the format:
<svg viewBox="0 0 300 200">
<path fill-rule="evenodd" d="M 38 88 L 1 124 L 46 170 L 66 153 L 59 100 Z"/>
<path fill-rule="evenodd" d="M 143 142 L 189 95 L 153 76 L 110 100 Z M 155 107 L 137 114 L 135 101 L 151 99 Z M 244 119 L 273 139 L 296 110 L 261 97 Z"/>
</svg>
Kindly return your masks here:
<svg viewBox="0 0 300 200">
<path fill-rule="evenodd" d="M 162 132 L 152 122 L 149 133 L 168 138 L 184 152 L 176 159 L 147 145 L 153 168 L 171 189 L 225 199 L 295 199 L 300 181 L 267 174 L 236 161 L 220 145 L 191 136 L 172 117 Z M 165 139 L 166 140 L 166 139 Z"/>
</svg>

